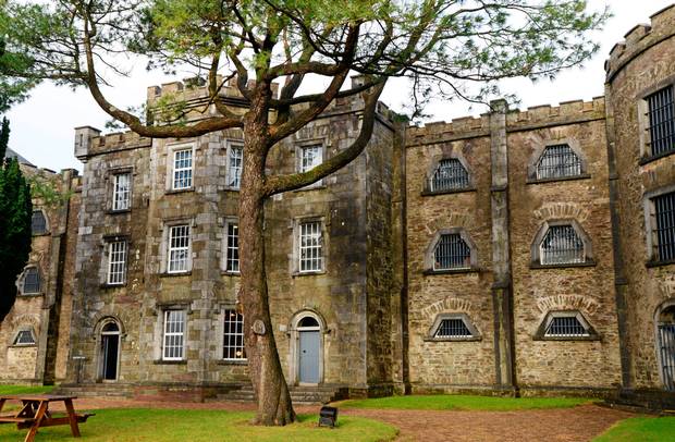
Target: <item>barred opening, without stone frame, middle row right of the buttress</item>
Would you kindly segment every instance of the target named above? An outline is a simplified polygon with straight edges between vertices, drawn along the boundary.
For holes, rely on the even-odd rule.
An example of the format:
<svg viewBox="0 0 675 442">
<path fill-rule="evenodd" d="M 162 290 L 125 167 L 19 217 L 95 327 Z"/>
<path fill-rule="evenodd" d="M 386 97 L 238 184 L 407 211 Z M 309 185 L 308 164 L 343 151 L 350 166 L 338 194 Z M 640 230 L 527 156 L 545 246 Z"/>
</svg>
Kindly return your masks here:
<svg viewBox="0 0 675 442">
<path fill-rule="evenodd" d="M 585 262 L 584 241 L 572 224 L 551 225 L 540 245 L 542 265 Z"/>
</svg>

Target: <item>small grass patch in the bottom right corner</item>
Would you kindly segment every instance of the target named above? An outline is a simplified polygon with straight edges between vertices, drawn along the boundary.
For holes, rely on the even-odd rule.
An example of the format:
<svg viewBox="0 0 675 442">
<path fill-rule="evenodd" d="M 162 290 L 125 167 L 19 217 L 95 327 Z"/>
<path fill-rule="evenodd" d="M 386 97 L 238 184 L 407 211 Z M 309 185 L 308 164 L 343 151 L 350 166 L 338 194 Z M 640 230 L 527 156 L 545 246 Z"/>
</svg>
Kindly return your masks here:
<svg viewBox="0 0 675 442">
<path fill-rule="evenodd" d="M 613 425 L 593 442 L 658 442 L 675 439 L 675 417 L 634 417 Z"/>
</svg>

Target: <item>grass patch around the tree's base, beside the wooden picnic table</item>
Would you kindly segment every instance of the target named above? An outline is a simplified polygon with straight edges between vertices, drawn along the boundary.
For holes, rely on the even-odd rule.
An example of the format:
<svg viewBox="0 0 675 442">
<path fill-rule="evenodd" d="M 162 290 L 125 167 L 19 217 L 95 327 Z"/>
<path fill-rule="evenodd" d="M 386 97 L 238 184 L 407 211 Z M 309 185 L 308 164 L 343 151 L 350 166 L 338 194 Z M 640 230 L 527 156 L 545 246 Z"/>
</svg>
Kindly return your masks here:
<svg viewBox="0 0 675 442">
<path fill-rule="evenodd" d="M 339 416 L 338 428 L 317 427 L 318 416 L 300 415 L 296 423 L 257 427 L 248 423 L 253 413 L 195 409 L 100 409 L 79 426 L 81 441 L 389 441 L 397 434 L 393 426 L 371 419 Z M 27 430 L 0 426 L 0 440 L 21 441 Z M 13 439 L 11 439 L 13 438 Z M 68 426 L 40 429 L 39 441 L 72 441 Z"/>
</svg>

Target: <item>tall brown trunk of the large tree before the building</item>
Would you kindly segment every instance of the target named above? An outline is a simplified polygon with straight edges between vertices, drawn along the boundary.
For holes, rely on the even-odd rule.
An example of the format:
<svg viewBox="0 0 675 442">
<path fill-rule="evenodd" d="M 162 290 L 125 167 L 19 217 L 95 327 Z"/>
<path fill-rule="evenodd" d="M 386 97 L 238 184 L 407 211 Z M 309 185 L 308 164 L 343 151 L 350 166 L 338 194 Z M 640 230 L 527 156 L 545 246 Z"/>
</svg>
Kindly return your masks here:
<svg viewBox="0 0 675 442">
<path fill-rule="evenodd" d="M 258 101 L 258 102 L 256 102 Z M 295 420 L 289 386 L 281 369 L 270 318 L 265 273 L 265 157 L 267 102 L 254 100 L 245 124 L 240 189 L 240 302 L 248 370 L 258 398 L 256 423 L 284 426 Z"/>
</svg>

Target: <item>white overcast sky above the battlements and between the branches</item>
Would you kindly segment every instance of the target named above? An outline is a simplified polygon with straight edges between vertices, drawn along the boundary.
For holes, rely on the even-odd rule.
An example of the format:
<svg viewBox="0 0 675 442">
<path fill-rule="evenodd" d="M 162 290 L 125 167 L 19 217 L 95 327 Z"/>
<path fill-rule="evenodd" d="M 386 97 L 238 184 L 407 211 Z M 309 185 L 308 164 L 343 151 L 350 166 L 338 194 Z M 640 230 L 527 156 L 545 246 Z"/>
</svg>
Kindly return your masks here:
<svg viewBox="0 0 675 442">
<path fill-rule="evenodd" d="M 605 29 L 591 38 L 601 44 L 600 51 L 585 66 L 565 71 L 554 82 L 513 79 L 502 84 L 502 89 L 520 97 L 520 108 L 538 105 L 557 105 L 575 99 L 590 100 L 603 94 L 603 64 L 612 47 L 638 23 L 649 23 L 649 16 L 673 4 L 674 0 L 589 0 L 592 9 L 610 3 L 614 16 Z M 146 73 L 138 66 L 130 78 L 118 79 L 114 89 L 106 93 L 113 103 L 121 108 L 139 105 L 146 96 L 146 87 L 167 83 L 172 78 Z M 382 100 L 393 109 L 400 109 L 407 97 L 400 94 L 400 87 L 385 89 Z M 486 109 L 470 108 L 463 102 L 435 102 L 427 110 L 433 115 L 429 121 L 478 115 Z M 72 91 L 65 87 L 44 84 L 32 97 L 8 113 L 11 120 L 10 147 L 36 165 L 52 170 L 75 168 L 82 171 L 82 163 L 73 156 L 73 128 L 90 125 L 103 128 L 108 115 L 94 102 L 87 90 Z"/>
</svg>

